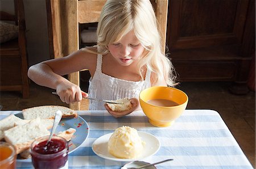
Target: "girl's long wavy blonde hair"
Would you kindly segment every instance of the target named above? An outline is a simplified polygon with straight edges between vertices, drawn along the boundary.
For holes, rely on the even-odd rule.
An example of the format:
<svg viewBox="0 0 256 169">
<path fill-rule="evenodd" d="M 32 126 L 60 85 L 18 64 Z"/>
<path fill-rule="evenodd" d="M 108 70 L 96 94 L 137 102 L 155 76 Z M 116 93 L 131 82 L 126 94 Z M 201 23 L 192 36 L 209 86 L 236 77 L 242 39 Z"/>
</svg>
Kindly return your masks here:
<svg viewBox="0 0 256 169">
<path fill-rule="evenodd" d="M 108 45 L 117 42 L 130 31 L 134 31 L 145 48 L 137 65 L 141 77 L 142 67 L 146 66 L 147 70 L 154 73 L 153 86 L 163 80 L 168 86 L 175 86 L 175 70 L 171 61 L 161 52 L 155 12 L 149 0 L 108 0 L 98 22 L 97 47 L 86 50 L 109 53 Z"/>
</svg>

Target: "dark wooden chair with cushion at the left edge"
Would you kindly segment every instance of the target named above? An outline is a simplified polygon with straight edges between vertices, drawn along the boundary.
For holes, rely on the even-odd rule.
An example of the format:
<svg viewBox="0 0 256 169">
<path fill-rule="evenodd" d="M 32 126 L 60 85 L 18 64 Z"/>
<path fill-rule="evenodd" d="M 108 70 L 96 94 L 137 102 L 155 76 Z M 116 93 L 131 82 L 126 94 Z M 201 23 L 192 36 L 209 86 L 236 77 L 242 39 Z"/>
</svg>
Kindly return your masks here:
<svg viewBox="0 0 256 169">
<path fill-rule="evenodd" d="M 22 0 L 14 0 L 15 15 L 1 11 L 1 20 L 15 22 L 18 38 L 1 44 L 1 91 L 20 91 L 23 98 L 29 96 L 27 77 L 26 24 Z"/>
</svg>

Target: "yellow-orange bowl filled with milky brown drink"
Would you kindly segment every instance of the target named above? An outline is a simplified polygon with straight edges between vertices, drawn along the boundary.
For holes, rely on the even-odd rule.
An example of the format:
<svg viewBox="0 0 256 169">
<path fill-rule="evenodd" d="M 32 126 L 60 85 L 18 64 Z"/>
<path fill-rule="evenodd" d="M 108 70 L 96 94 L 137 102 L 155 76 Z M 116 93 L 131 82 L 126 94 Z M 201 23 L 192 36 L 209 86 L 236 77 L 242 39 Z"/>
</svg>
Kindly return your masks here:
<svg viewBox="0 0 256 169">
<path fill-rule="evenodd" d="M 158 103 L 152 103 L 154 100 Z M 175 102 L 176 105 L 167 105 L 162 101 Z M 141 91 L 139 103 L 152 125 L 166 127 L 183 113 L 188 104 L 188 96 L 174 87 L 154 86 Z"/>
</svg>

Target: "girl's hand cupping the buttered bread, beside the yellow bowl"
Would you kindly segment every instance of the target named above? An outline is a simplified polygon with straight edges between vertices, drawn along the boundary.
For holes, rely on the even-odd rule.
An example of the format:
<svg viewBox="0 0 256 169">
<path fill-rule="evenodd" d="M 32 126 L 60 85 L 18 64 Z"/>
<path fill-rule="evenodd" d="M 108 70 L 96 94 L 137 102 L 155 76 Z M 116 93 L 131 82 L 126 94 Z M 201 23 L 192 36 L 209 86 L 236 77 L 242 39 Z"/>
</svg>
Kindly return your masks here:
<svg viewBox="0 0 256 169">
<path fill-rule="evenodd" d="M 136 98 L 131 98 L 131 109 L 127 110 L 127 111 L 123 111 L 123 112 L 114 112 L 112 111 L 108 105 L 105 104 L 105 108 L 106 110 L 112 115 L 114 116 L 115 118 L 118 118 L 118 117 L 123 117 L 125 115 L 129 115 L 131 112 L 135 111 L 138 107 L 139 107 L 139 100 L 136 99 Z"/>
</svg>

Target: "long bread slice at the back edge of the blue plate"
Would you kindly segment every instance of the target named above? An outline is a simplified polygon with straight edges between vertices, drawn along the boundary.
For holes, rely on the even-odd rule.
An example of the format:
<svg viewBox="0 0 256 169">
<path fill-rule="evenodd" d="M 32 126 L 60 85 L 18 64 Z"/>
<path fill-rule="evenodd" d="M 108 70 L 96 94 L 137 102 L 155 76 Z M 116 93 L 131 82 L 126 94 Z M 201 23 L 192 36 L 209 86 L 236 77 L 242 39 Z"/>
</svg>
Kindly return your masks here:
<svg viewBox="0 0 256 169">
<path fill-rule="evenodd" d="M 60 110 L 62 112 L 62 117 L 77 117 L 76 111 L 60 105 L 42 105 L 38 107 L 31 107 L 22 110 L 24 119 L 35 119 L 40 117 L 41 119 L 54 119 L 55 112 Z"/>
</svg>

